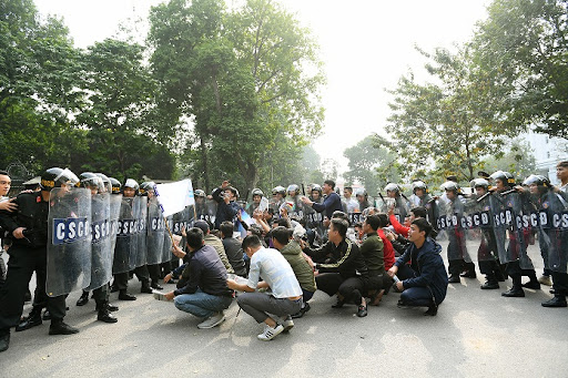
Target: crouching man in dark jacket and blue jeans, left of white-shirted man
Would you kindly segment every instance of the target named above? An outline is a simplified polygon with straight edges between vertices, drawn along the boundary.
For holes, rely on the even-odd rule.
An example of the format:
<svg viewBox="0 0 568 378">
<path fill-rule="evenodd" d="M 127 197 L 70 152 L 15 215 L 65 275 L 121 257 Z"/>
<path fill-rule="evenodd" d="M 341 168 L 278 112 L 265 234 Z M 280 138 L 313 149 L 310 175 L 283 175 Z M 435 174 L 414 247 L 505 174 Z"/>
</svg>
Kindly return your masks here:
<svg viewBox="0 0 568 378">
<path fill-rule="evenodd" d="M 187 284 L 165 298 L 174 300 L 175 307 L 182 311 L 205 318 L 197 328 L 213 328 L 223 320 L 223 310 L 229 308 L 233 299 L 233 290 L 227 287 L 226 269 L 216 251 L 203 243 L 203 232 L 193 227 L 186 233 L 190 248 L 190 275 Z M 175 247 L 174 254 L 183 258 L 185 253 Z"/>
</svg>

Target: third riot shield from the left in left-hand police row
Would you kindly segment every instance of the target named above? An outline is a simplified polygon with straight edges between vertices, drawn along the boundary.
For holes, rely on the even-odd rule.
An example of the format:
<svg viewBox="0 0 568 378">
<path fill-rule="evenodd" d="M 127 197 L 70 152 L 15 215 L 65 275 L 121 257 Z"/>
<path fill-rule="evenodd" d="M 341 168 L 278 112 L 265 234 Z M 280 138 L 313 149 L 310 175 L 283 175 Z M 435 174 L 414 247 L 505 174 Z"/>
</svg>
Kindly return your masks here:
<svg viewBox="0 0 568 378">
<path fill-rule="evenodd" d="M 116 222 L 116 245 L 112 262 L 112 274 L 130 270 L 131 249 L 136 245 L 136 219 L 134 218 L 132 204 L 134 198 L 122 197 L 119 221 Z"/>
</svg>

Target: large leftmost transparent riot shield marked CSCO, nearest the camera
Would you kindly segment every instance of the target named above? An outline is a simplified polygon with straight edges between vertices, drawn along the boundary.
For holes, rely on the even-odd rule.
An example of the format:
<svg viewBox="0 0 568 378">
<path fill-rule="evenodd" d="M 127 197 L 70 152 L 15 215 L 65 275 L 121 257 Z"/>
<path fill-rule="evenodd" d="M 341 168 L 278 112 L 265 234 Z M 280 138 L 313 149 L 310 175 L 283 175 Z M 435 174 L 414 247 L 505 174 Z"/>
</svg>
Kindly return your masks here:
<svg viewBox="0 0 568 378">
<path fill-rule="evenodd" d="M 50 193 L 45 292 L 69 294 L 91 283 L 91 192 L 55 187 Z"/>
</svg>

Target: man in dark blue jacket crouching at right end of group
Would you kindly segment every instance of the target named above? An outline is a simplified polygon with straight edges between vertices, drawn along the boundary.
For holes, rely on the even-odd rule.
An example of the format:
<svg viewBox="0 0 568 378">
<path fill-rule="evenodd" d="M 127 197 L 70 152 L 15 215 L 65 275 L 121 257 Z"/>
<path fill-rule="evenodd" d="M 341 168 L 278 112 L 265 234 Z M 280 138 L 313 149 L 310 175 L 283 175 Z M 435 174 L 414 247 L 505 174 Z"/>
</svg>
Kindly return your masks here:
<svg viewBox="0 0 568 378">
<path fill-rule="evenodd" d="M 448 275 L 439 255 L 442 246 L 428 237 L 432 225 L 426 219 L 415 219 L 408 232 L 410 245 L 387 274 L 394 277 L 399 269 L 407 269 L 406 264 L 410 262 L 414 274 L 396 283 L 396 287 L 403 292 L 398 305 L 428 307 L 425 315 L 435 316 L 438 305 L 446 297 Z"/>
</svg>

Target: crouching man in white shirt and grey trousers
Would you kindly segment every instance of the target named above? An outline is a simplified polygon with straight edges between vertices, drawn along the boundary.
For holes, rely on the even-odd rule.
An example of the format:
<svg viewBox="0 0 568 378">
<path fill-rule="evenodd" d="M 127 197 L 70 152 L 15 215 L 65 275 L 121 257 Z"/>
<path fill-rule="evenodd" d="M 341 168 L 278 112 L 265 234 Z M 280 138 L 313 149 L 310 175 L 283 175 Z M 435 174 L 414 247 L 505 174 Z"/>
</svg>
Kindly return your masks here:
<svg viewBox="0 0 568 378">
<path fill-rule="evenodd" d="M 292 314 L 302 308 L 302 288 L 284 256 L 276 249 L 262 247 L 256 235 L 244 238 L 243 251 L 251 257 L 248 282 L 237 284 L 227 279 L 227 284 L 234 290 L 245 292 L 239 295 L 236 303 L 256 323 L 264 323 L 264 331 L 257 337 L 270 341 L 294 327 Z M 262 283 L 258 283 L 260 278 Z M 254 293 L 256 288 L 271 288 L 272 293 Z M 280 318 L 275 320 L 268 314 Z"/>
</svg>

